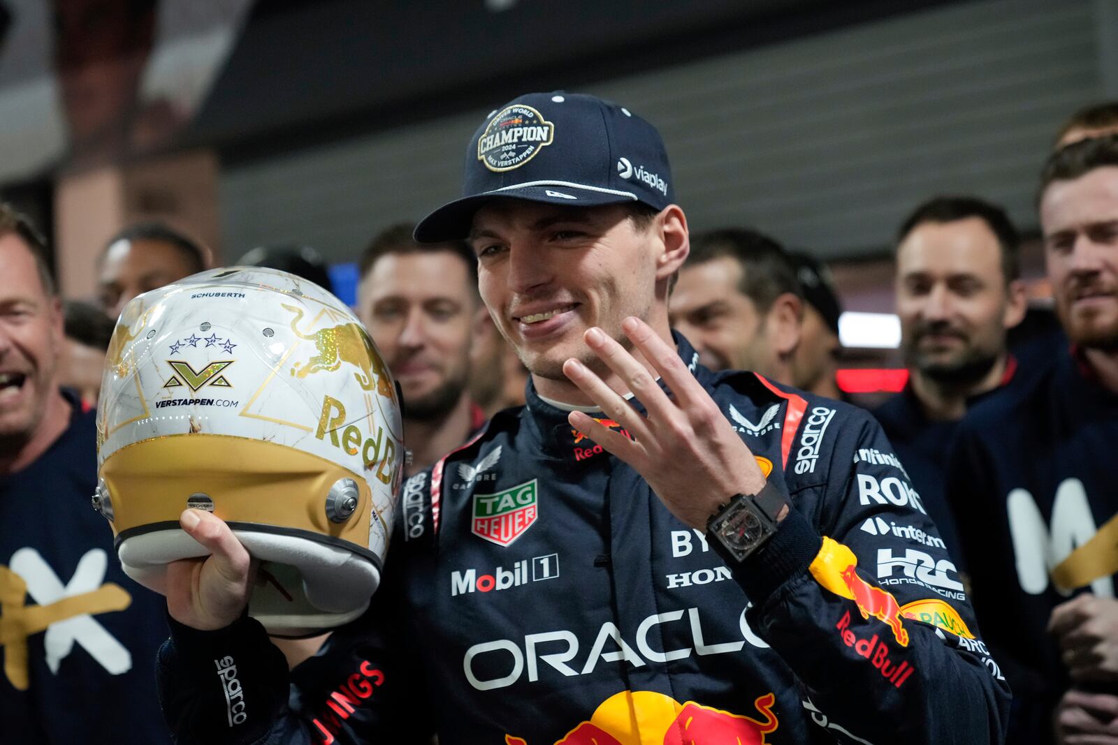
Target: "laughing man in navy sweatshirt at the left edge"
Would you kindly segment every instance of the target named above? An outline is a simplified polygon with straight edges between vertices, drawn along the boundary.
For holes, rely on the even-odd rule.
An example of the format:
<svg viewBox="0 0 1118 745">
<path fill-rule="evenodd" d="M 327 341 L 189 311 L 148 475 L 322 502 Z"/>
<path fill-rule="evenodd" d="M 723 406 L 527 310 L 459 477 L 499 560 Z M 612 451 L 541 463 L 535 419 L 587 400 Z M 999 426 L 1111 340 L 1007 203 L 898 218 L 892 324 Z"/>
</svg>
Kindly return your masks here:
<svg viewBox="0 0 1118 745">
<path fill-rule="evenodd" d="M 45 251 L 0 204 L 0 739 L 169 743 L 151 686 L 161 599 L 125 577 L 89 508 L 95 414 L 57 384 Z"/>
</svg>

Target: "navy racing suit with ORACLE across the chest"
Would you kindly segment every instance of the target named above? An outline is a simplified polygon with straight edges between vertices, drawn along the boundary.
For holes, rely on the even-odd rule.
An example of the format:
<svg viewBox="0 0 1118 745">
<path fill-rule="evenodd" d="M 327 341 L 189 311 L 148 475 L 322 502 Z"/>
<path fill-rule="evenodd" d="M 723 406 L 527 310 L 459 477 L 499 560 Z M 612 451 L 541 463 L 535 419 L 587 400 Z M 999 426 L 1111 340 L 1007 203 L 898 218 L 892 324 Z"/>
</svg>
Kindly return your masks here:
<svg viewBox="0 0 1118 745">
<path fill-rule="evenodd" d="M 529 386 L 405 483 L 369 611 L 290 676 L 252 619 L 172 622 L 178 742 L 1001 743 L 1008 688 L 880 426 L 676 342 L 790 499 L 762 548 L 728 566 Z"/>
</svg>

